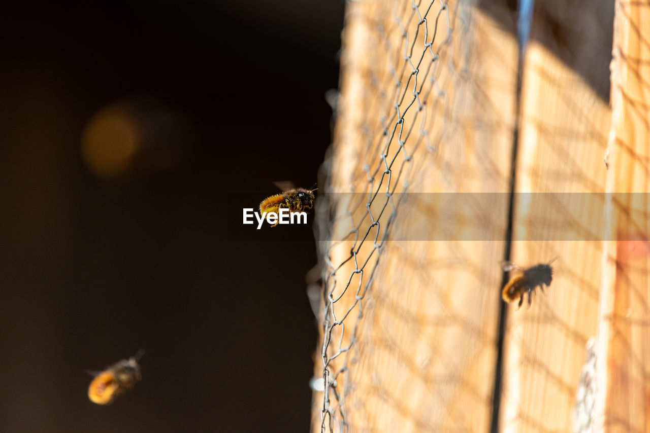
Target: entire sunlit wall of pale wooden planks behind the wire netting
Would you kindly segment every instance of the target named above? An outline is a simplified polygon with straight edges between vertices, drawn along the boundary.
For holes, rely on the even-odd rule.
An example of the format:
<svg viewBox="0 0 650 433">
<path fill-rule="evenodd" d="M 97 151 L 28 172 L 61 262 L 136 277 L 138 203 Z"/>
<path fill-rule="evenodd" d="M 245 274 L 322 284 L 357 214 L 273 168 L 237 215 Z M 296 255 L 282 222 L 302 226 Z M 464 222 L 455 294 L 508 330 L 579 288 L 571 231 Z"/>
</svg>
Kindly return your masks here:
<svg viewBox="0 0 650 433">
<path fill-rule="evenodd" d="M 617 3 L 612 111 L 608 47 L 593 42 L 608 3 L 541 4 L 522 64 L 511 258 L 557 261 L 530 308 L 508 308 L 500 431 L 650 431 L 649 8 Z M 322 243 L 326 315 L 341 321 L 324 351 L 326 431 L 489 430 L 508 208 L 463 201 L 508 192 L 517 43 L 513 27 L 449 6 L 452 38 L 439 19 L 429 51 L 445 10 L 426 33 L 428 4 L 348 4 Z M 571 31 L 553 27 L 560 12 Z M 577 398 L 587 421 L 572 425 Z"/>
</svg>

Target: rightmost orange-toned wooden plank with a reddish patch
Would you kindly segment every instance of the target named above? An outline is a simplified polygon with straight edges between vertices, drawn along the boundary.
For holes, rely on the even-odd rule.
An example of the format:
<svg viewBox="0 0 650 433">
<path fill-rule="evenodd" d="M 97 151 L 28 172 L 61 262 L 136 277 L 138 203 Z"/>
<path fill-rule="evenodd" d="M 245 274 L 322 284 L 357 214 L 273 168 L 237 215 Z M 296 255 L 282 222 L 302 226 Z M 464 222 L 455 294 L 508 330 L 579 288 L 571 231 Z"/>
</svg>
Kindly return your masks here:
<svg viewBox="0 0 650 433">
<path fill-rule="evenodd" d="M 595 421 L 650 432 L 650 3 L 617 1 Z"/>
</svg>

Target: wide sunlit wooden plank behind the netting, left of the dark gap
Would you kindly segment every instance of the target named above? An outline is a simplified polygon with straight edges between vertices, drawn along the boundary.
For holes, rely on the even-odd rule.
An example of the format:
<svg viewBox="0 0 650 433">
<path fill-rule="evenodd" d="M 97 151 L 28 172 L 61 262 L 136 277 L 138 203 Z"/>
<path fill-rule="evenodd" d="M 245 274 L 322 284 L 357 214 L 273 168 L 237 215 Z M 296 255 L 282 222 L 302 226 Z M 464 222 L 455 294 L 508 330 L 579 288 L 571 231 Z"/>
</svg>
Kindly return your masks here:
<svg viewBox="0 0 650 433">
<path fill-rule="evenodd" d="M 419 14 L 428 6 L 419 5 Z M 449 2 L 452 39 L 447 40 L 447 11 L 435 2 L 425 40 L 408 1 L 348 3 L 328 190 L 337 193 L 330 203 L 333 239 L 363 221 L 360 239 L 370 225 L 365 195 L 343 192 L 379 189 L 370 204 L 376 216 L 386 201 L 385 186 L 396 188 L 380 230 L 393 204 L 396 214 L 380 249 L 374 229 L 373 239 L 360 246 L 350 238 L 323 245 L 326 289 L 331 299 L 341 296 L 328 309 L 330 324 L 332 313 L 340 319 L 350 312 L 344 327 L 333 328 L 326 351 L 336 380 L 326 431 L 330 421 L 336 432 L 489 429 L 517 43 L 480 10 L 467 3 L 456 7 Z M 413 56 L 405 60 L 414 39 Z M 411 64 L 422 90 L 399 123 L 395 101 L 406 90 L 401 114 L 413 99 Z M 396 159 L 390 182 L 386 176 L 380 187 L 382 153 Z M 500 193 L 501 200 L 452 207 L 437 193 L 458 193 L 459 202 L 480 197 L 461 193 Z M 316 358 L 318 377 L 320 348 Z M 323 393 L 316 391 L 313 402 L 313 431 L 320 431 Z"/>
</svg>

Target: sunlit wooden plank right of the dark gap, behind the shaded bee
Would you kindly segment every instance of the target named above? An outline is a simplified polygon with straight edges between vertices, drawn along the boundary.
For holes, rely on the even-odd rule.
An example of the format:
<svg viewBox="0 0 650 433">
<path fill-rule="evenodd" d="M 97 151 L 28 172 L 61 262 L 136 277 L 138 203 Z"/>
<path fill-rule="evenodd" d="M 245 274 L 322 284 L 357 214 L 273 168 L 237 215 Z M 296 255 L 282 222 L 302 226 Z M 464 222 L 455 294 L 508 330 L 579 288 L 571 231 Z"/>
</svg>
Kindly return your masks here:
<svg viewBox="0 0 650 433">
<path fill-rule="evenodd" d="M 578 51 L 575 62 L 582 61 Z M 569 431 L 597 325 L 610 110 L 537 42 L 528 45 L 523 74 L 512 260 L 557 260 L 550 288 L 538 290 L 530 308 L 508 308 L 500 425 L 504 432 Z"/>
</svg>

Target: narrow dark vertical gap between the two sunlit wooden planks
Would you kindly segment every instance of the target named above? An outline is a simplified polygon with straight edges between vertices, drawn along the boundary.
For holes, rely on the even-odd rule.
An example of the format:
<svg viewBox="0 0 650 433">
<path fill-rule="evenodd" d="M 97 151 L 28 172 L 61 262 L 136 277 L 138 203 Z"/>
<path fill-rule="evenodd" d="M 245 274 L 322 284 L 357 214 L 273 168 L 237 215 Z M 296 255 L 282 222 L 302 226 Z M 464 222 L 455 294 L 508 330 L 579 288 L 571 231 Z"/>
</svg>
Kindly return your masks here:
<svg viewBox="0 0 650 433">
<path fill-rule="evenodd" d="M 530 2 L 532 3 L 532 2 Z M 532 6 L 531 6 L 532 9 Z M 532 11 L 531 11 L 532 12 Z M 521 37 L 521 27 L 525 25 L 526 27 L 530 26 L 530 18 L 532 13 L 528 15 L 528 19 L 519 19 L 519 58 L 517 62 L 517 89 L 515 91 L 515 127 L 513 130 L 512 137 L 512 158 L 510 160 L 510 184 L 508 185 L 510 196 L 508 197 L 508 225 L 506 227 L 506 247 L 503 251 L 503 260 L 506 262 L 510 261 L 510 251 L 512 250 L 512 224 L 513 224 L 513 214 L 514 214 L 514 203 L 515 203 L 515 184 L 517 180 L 517 151 L 519 147 L 519 123 L 521 119 L 521 81 L 523 77 L 523 60 L 525 54 L 526 42 L 528 39 L 527 29 L 525 38 Z M 526 21 L 526 22 L 524 22 Z M 501 276 L 501 285 L 500 288 L 508 284 L 508 272 L 503 271 Z M 506 311 L 508 304 L 500 300 L 501 291 L 497 291 L 499 294 L 499 325 L 497 325 L 497 364 L 495 365 L 494 371 L 494 385 L 492 389 L 492 415 L 490 422 L 490 433 L 499 432 L 499 411 L 500 411 L 500 402 L 502 396 L 502 380 L 503 380 L 503 342 L 504 336 L 506 333 Z"/>
</svg>

